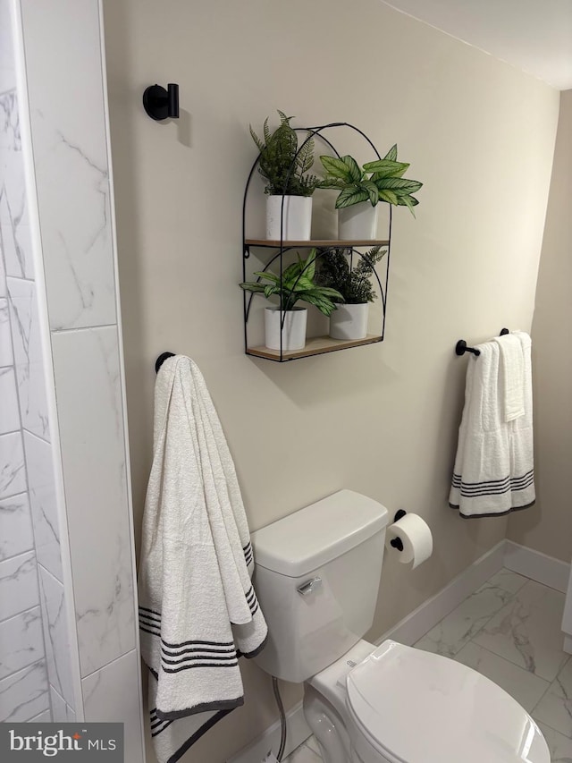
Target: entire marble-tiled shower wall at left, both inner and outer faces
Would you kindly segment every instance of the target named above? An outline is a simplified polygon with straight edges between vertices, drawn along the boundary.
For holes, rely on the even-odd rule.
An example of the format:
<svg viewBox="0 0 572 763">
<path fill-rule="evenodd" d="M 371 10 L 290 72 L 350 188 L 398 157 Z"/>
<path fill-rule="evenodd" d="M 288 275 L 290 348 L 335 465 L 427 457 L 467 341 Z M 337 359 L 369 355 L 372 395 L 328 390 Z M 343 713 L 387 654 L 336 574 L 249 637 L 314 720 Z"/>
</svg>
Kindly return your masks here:
<svg viewBox="0 0 572 763">
<path fill-rule="evenodd" d="M 99 13 L 0 0 L 0 721 L 123 721 L 141 763 Z"/>
</svg>

